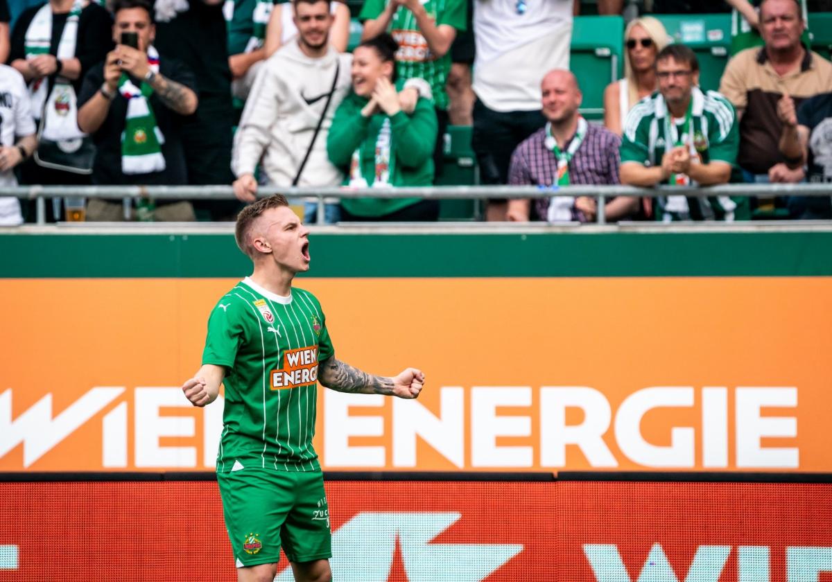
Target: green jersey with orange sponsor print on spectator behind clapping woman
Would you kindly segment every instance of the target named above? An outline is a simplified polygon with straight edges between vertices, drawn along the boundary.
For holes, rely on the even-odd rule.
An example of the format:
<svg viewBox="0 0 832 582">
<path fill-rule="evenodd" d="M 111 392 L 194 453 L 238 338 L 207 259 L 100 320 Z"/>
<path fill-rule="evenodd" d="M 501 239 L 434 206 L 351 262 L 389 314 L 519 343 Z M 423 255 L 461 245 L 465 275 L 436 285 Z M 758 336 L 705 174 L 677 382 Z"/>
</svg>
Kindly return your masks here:
<svg viewBox="0 0 832 582">
<path fill-rule="evenodd" d="M 365 0 L 359 18 L 361 22 L 374 20 L 384 12 L 390 0 Z M 448 24 L 463 32 L 467 27 L 465 0 L 426 0 L 422 5 L 436 26 Z M 414 13 L 400 6 L 390 22 L 390 34 L 399 43 L 396 52 L 396 70 L 402 79 L 422 78 L 430 83 L 433 103 L 438 109 L 448 109 L 448 93 L 445 81 L 451 70 L 451 52 L 437 58 L 430 52 L 428 41 L 419 32 Z"/>
</svg>

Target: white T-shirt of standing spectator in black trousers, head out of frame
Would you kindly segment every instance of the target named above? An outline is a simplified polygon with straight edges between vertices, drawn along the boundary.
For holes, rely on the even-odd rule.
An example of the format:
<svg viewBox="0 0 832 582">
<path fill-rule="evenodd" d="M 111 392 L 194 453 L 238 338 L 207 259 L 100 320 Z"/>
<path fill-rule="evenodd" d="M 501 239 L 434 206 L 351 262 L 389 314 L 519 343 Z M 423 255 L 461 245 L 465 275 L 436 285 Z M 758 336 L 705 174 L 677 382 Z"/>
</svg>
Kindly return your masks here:
<svg viewBox="0 0 832 582">
<path fill-rule="evenodd" d="M 540 81 L 569 68 L 572 0 L 477 0 L 473 90 L 494 111 L 540 109 Z"/>
</svg>

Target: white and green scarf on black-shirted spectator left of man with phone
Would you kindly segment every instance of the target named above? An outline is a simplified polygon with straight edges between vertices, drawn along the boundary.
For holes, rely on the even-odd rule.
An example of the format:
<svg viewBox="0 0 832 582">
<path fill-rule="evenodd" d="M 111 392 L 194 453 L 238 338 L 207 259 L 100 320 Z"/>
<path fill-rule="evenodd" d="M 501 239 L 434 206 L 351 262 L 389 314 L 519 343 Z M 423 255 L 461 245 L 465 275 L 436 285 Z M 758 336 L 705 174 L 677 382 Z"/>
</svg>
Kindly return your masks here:
<svg viewBox="0 0 832 582">
<path fill-rule="evenodd" d="M 57 45 L 57 58 L 69 59 L 75 57 L 75 48 L 78 40 L 78 20 L 81 17 L 84 2 L 75 0 L 67 17 L 67 23 L 63 27 L 61 40 Z M 52 6 L 47 2 L 32 18 L 32 22 L 26 29 L 24 37 L 24 51 L 27 59 L 49 54 L 49 47 L 52 46 Z M 55 85 L 68 85 L 67 79 L 58 76 Z M 32 100 L 32 113 L 37 119 L 42 116 L 43 107 L 47 102 L 47 78 L 36 79 L 29 84 L 29 97 Z M 70 85 L 71 86 L 71 85 Z M 72 91 L 74 97 L 75 91 Z M 63 111 L 63 109 L 62 109 Z"/>
</svg>

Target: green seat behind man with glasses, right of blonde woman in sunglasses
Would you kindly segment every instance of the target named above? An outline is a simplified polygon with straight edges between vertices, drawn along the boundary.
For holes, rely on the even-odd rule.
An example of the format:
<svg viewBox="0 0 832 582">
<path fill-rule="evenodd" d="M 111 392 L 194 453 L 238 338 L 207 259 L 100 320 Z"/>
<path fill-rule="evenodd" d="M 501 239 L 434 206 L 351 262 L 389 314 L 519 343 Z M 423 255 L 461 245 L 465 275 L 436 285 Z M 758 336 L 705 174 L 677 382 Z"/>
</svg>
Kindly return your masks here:
<svg viewBox="0 0 832 582">
<path fill-rule="evenodd" d="M 722 72 L 730 55 L 730 14 L 656 14 L 673 42 L 696 52 L 699 86 L 719 91 Z"/>
</svg>

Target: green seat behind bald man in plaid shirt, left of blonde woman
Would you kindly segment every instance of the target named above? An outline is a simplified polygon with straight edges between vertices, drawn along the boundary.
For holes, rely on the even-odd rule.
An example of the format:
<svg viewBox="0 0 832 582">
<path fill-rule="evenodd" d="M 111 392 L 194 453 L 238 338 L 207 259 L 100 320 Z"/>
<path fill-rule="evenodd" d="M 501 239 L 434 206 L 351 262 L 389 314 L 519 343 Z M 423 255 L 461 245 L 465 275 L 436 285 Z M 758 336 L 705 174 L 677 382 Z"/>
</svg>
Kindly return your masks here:
<svg viewBox="0 0 832 582">
<path fill-rule="evenodd" d="M 583 93 L 581 114 L 604 117 L 604 88 L 621 78 L 624 62 L 624 19 L 620 16 L 579 16 L 572 25 L 569 68 Z"/>
</svg>

